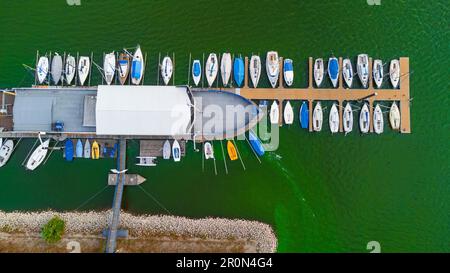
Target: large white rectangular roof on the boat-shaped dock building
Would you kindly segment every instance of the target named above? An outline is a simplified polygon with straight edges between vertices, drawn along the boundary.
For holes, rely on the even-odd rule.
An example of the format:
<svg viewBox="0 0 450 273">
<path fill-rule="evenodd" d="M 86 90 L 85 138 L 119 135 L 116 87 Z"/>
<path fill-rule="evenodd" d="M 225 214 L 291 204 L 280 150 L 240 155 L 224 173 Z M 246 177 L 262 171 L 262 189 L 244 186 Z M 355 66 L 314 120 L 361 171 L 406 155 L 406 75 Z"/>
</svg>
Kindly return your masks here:
<svg viewBox="0 0 450 273">
<path fill-rule="evenodd" d="M 186 87 L 98 87 L 98 135 L 183 136 L 189 134 L 191 101 Z"/>
</svg>

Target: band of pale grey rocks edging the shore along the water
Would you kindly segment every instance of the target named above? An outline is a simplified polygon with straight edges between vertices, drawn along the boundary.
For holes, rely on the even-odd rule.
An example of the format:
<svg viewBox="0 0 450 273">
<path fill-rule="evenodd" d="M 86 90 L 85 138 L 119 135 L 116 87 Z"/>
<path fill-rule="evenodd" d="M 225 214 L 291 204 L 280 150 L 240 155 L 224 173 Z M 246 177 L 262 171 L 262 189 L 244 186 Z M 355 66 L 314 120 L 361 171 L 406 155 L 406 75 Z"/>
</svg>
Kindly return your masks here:
<svg viewBox="0 0 450 273">
<path fill-rule="evenodd" d="M 111 210 L 91 212 L 2 212 L 0 230 L 4 232 L 38 233 L 52 217 L 66 222 L 66 233 L 100 234 L 109 224 Z M 132 237 L 179 236 L 207 240 L 247 240 L 255 244 L 258 253 L 273 253 L 277 238 L 264 223 L 224 218 L 189 219 L 178 216 L 133 215 L 121 212 L 120 228 Z"/>
</svg>

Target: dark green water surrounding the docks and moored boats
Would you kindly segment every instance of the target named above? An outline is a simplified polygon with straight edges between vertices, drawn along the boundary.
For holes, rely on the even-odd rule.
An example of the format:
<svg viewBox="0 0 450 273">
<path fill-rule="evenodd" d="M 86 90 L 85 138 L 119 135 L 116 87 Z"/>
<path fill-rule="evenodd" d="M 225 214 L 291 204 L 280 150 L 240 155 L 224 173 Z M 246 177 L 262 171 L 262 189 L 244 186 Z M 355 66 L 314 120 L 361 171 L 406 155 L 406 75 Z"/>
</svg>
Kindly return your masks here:
<svg viewBox="0 0 450 273">
<path fill-rule="evenodd" d="M 450 251 L 450 112 L 448 1 L 0 1 L 0 86 L 33 82 L 22 63 L 36 49 L 96 54 L 133 47 L 148 52 L 146 83 L 156 83 L 159 52 L 176 53 L 176 83 L 186 82 L 189 52 L 249 55 L 276 49 L 294 60 L 296 86 L 306 85 L 307 57 L 409 56 L 411 135 L 344 137 L 283 128 L 277 151 L 259 164 L 243 142 L 246 164 L 218 160 L 202 172 L 190 145 L 181 164 L 132 165 L 147 177 L 127 188 L 123 206 L 135 213 L 260 220 L 272 225 L 280 252 Z M 99 80 L 96 73 L 93 82 Z M 266 79 L 263 85 L 268 85 Z M 295 103 L 298 111 L 298 103 Z M 105 187 L 112 160 L 66 163 L 61 152 L 37 171 L 21 163 L 34 141 L 24 141 L 0 170 L 0 209 L 90 210 L 112 204 Z M 216 152 L 220 145 L 215 144 Z"/>
</svg>

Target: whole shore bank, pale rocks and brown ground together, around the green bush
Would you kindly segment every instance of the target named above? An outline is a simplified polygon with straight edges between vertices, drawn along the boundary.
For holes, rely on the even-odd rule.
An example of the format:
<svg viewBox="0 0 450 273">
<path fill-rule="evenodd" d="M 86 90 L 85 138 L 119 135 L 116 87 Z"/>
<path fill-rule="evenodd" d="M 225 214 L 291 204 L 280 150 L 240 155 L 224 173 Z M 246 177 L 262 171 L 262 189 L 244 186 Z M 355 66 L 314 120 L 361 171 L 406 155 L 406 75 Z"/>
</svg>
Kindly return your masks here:
<svg viewBox="0 0 450 273">
<path fill-rule="evenodd" d="M 0 211 L 0 252 L 70 252 L 67 244 L 80 243 L 81 252 L 102 252 L 111 210 L 90 212 Z M 42 239 L 45 224 L 58 216 L 65 222 L 60 242 Z M 224 218 L 189 219 L 179 216 L 133 215 L 121 212 L 118 252 L 246 252 L 273 253 L 277 238 L 271 226 L 257 221 Z"/>
</svg>

